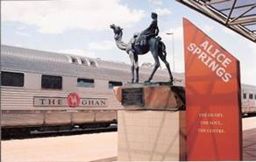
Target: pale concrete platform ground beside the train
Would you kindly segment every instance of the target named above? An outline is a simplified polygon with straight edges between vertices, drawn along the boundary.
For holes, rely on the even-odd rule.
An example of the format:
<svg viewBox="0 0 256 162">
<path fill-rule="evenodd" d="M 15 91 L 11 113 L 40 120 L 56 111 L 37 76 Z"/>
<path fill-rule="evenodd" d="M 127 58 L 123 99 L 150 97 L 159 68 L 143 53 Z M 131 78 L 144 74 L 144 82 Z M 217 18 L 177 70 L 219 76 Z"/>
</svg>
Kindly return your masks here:
<svg viewBox="0 0 256 162">
<path fill-rule="evenodd" d="M 256 161 L 256 117 L 243 119 L 243 157 Z M 117 132 L 1 141 L 4 162 L 115 161 Z"/>
</svg>

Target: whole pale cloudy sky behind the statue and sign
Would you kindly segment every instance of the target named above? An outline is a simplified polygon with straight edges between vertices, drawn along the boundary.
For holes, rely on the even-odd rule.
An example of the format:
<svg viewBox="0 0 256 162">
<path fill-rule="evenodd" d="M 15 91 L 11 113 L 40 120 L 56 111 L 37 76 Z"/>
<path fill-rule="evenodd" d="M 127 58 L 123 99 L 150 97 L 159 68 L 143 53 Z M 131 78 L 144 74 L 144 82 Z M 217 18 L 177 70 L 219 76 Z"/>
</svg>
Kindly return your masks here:
<svg viewBox="0 0 256 162">
<path fill-rule="evenodd" d="M 150 25 L 152 11 L 174 72 L 184 73 L 182 18 L 188 18 L 240 61 L 241 82 L 256 86 L 256 44 L 175 0 L 1 1 L 1 44 L 130 64 L 110 25 L 121 26 L 128 42 Z M 151 53 L 139 56 L 144 62 L 153 63 Z"/>
</svg>

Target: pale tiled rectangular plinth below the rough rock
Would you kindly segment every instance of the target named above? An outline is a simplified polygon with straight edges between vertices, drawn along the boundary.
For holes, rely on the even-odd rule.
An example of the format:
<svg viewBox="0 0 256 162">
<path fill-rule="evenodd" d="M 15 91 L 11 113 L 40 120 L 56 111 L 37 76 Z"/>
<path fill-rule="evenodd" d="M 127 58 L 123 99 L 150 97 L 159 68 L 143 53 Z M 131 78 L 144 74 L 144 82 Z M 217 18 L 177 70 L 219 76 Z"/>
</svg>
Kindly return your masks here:
<svg viewBox="0 0 256 162">
<path fill-rule="evenodd" d="M 186 160 L 185 111 L 119 110 L 118 161 Z"/>
</svg>

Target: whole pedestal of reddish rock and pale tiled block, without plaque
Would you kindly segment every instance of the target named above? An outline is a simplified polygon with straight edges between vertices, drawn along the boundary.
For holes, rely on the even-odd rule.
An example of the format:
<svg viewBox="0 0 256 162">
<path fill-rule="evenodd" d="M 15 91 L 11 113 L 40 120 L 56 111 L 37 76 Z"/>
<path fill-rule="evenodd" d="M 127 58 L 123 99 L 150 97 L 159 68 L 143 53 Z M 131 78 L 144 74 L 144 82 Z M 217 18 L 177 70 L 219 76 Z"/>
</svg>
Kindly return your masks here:
<svg viewBox="0 0 256 162">
<path fill-rule="evenodd" d="M 125 88 L 131 86 L 115 88 L 120 102 Z M 117 113 L 118 161 L 186 160 L 186 114 L 179 110 L 185 108 L 183 89 L 140 88 L 144 106 L 125 105 Z"/>
</svg>

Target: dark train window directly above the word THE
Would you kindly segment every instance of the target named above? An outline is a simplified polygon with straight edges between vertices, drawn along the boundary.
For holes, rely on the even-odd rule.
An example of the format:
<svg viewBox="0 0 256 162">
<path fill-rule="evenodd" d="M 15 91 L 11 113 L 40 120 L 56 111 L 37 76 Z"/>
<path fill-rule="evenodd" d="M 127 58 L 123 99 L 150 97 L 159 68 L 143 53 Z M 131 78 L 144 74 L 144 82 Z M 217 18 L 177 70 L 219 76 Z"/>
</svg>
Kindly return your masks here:
<svg viewBox="0 0 256 162">
<path fill-rule="evenodd" d="M 41 88 L 62 88 L 62 77 L 42 74 Z"/>
</svg>

